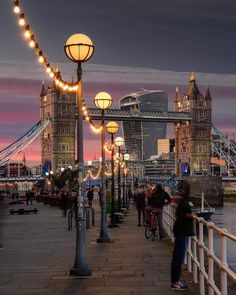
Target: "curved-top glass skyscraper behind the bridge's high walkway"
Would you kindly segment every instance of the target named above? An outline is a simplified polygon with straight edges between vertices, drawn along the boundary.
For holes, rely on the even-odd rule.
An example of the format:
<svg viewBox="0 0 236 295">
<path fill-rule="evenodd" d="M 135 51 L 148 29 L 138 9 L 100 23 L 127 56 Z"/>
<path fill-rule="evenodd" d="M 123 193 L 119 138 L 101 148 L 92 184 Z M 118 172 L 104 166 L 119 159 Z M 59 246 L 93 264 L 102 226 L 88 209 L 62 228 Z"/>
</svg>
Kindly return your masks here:
<svg viewBox="0 0 236 295">
<path fill-rule="evenodd" d="M 135 115 L 142 112 L 167 111 L 167 94 L 161 90 L 141 90 L 120 100 L 122 110 Z M 132 160 L 142 161 L 157 153 L 157 139 L 166 137 L 166 123 L 123 122 L 125 145 Z"/>
</svg>

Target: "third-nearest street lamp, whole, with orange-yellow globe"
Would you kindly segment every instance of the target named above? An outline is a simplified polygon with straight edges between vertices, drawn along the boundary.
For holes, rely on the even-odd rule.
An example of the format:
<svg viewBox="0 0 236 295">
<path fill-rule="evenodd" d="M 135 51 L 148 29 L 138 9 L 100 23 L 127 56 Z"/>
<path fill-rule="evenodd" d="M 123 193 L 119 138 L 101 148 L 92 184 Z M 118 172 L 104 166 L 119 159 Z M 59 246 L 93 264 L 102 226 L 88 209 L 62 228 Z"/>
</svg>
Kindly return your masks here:
<svg viewBox="0 0 236 295">
<path fill-rule="evenodd" d="M 117 227 L 115 220 L 114 134 L 118 132 L 119 125 L 111 121 L 107 123 L 106 130 L 111 134 L 111 220 L 109 227 Z"/>
</svg>

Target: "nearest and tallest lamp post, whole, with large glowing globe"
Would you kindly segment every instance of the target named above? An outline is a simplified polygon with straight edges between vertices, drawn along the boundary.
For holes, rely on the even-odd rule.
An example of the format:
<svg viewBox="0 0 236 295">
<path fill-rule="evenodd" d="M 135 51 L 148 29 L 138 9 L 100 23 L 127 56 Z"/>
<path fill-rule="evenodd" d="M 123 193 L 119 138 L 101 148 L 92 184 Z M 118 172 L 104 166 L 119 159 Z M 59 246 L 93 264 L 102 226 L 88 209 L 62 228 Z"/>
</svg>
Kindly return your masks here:
<svg viewBox="0 0 236 295">
<path fill-rule="evenodd" d="M 78 194 L 77 194 L 77 228 L 76 228 L 76 253 L 70 275 L 90 276 L 86 253 L 85 241 L 85 214 L 84 214 L 84 159 L 83 159 L 83 113 L 82 113 L 82 67 L 81 63 L 88 61 L 93 53 L 94 46 L 91 39 L 84 34 L 74 34 L 69 37 L 64 46 L 66 56 L 77 63 L 77 160 L 78 160 Z"/>
</svg>

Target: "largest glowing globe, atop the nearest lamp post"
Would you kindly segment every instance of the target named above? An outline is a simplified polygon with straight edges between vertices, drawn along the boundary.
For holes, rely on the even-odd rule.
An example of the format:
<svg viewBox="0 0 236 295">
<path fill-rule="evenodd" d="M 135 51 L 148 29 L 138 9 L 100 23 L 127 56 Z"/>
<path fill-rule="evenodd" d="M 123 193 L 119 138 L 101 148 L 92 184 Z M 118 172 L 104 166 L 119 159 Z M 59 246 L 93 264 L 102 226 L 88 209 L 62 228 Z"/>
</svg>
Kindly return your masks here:
<svg viewBox="0 0 236 295">
<path fill-rule="evenodd" d="M 85 62 L 92 57 L 94 45 L 87 35 L 79 33 L 69 37 L 64 46 L 64 51 L 73 62 Z"/>
</svg>

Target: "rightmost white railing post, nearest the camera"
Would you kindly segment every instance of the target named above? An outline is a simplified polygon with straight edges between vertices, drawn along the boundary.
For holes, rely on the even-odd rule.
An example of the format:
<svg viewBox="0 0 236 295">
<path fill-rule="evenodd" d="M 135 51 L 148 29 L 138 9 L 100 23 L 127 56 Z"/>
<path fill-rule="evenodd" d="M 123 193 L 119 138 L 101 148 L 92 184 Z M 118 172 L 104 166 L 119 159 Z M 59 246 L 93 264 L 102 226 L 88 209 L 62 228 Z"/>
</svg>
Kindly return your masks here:
<svg viewBox="0 0 236 295">
<path fill-rule="evenodd" d="M 222 229 L 220 233 L 220 251 L 221 251 L 221 267 L 220 267 L 220 281 L 221 281 L 221 294 L 227 295 L 228 294 L 228 288 L 227 288 L 227 273 L 223 269 L 224 266 L 228 266 L 227 263 L 227 239 L 224 236 L 223 231 L 227 231 L 226 229 Z"/>
</svg>

